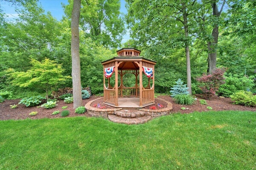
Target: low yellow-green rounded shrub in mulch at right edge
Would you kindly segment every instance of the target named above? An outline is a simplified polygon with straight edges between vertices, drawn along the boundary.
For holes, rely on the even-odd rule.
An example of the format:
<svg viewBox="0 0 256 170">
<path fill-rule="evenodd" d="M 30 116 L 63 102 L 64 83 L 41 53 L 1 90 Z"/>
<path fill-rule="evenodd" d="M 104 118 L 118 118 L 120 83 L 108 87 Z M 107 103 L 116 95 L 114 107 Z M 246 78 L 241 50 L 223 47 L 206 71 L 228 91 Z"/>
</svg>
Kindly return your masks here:
<svg viewBox="0 0 256 170">
<path fill-rule="evenodd" d="M 238 91 L 230 97 L 235 105 L 256 106 L 256 96 L 250 91 Z"/>
</svg>

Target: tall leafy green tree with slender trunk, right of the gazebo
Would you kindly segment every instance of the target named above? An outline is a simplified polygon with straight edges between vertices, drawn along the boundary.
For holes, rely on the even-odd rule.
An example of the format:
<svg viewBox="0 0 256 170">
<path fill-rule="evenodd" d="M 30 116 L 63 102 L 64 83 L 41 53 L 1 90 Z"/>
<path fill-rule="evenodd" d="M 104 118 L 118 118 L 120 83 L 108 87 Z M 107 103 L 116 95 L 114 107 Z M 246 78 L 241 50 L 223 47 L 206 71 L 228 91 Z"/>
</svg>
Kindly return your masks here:
<svg viewBox="0 0 256 170">
<path fill-rule="evenodd" d="M 195 10 L 198 3 L 186 0 L 164 0 L 148 2 L 127 0 L 127 22 L 131 36 L 144 49 L 152 46 L 184 48 L 187 64 L 187 85 L 191 89 L 190 51 L 194 28 Z M 163 45 L 164 44 L 164 45 Z M 158 49 L 160 50 L 164 49 Z M 170 54 L 167 54 L 170 55 Z"/>
</svg>

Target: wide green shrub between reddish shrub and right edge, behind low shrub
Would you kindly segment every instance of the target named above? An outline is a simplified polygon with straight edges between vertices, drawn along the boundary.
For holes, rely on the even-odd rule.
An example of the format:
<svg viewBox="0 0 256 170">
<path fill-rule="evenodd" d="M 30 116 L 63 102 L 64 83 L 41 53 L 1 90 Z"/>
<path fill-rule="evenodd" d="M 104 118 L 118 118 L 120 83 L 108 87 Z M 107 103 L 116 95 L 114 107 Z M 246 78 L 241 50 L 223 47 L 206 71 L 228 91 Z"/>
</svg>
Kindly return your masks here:
<svg viewBox="0 0 256 170">
<path fill-rule="evenodd" d="M 253 77 L 246 77 L 243 75 L 229 75 L 228 77 L 225 77 L 226 83 L 223 85 L 220 85 L 218 95 L 224 96 L 224 97 L 230 97 L 230 95 L 236 93 L 240 90 L 248 90 L 252 89 L 254 86 Z"/>
</svg>

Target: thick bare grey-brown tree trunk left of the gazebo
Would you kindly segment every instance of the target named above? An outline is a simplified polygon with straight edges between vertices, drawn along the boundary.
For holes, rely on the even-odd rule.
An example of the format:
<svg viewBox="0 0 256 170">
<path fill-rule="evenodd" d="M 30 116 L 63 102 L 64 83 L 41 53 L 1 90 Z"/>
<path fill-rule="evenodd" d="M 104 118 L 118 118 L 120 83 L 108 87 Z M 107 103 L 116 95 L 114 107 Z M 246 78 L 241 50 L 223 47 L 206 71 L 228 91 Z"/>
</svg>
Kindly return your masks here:
<svg viewBox="0 0 256 170">
<path fill-rule="evenodd" d="M 72 84 L 73 84 L 73 107 L 82 106 L 81 68 L 79 55 L 79 18 L 81 0 L 74 0 L 71 17 L 71 57 L 72 57 Z"/>
</svg>

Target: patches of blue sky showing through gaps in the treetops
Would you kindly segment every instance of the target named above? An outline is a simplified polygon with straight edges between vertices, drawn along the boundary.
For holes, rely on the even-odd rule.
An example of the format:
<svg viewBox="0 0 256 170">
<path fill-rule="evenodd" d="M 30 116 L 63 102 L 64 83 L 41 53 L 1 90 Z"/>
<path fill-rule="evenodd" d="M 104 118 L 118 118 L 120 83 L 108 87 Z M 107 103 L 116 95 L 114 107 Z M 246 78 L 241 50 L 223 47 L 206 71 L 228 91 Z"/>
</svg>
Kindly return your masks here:
<svg viewBox="0 0 256 170">
<path fill-rule="evenodd" d="M 121 1 L 121 12 L 124 14 L 127 14 L 127 10 L 125 8 L 125 0 Z M 61 20 L 62 16 L 64 16 L 63 8 L 61 3 L 68 4 L 68 0 L 39 0 L 39 2 L 42 4 L 42 7 L 44 8 L 45 12 L 48 11 L 52 14 L 54 18 L 57 20 Z M 12 19 L 14 17 L 18 17 L 18 14 L 15 12 L 14 8 L 10 6 L 10 3 L 0 1 L 2 9 L 6 14 L 8 14 L 8 18 Z M 123 35 L 122 43 L 126 42 L 130 39 L 129 32 L 127 30 L 126 35 Z"/>
</svg>

